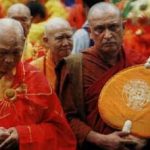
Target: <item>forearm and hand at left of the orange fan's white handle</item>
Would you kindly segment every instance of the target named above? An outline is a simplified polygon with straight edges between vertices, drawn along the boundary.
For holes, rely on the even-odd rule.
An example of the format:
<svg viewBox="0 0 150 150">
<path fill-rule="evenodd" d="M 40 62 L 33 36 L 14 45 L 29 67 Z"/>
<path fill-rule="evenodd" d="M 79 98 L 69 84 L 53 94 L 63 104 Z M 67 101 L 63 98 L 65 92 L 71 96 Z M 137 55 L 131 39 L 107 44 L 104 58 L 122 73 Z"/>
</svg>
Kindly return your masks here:
<svg viewBox="0 0 150 150">
<path fill-rule="evenodd" d="M 87 141 L 94 143 L 105 150 L 129 150 L 127 146 L 135 146 L 137 143 L 134 140 L 126 139 L 129 133 L 117 131 L 108 135 L 90 131 L 87 136 Z"/>
</svg>

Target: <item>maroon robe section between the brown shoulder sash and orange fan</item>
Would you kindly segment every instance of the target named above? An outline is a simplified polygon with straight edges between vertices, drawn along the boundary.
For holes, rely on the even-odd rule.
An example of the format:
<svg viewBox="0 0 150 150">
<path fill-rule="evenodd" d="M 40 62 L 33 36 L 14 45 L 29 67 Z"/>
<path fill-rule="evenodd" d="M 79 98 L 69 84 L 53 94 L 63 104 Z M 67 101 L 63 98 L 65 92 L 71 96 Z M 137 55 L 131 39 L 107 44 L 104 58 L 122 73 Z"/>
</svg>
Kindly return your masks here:
<svg viewBox="0 0 150 150">
<path fill-rule="evenodd" d="M 98 98 L 104 84 L 117 72 L 128 67 L 129 61 L 124 52 L 118 55 L 118 62 L 110 66 L 96 54 L 94 49 L 83 52 L 83 83 L 86 117 L 88 125 L 95 131 L 108 134 L 112 128 L 108 127 L 101 119 L 98 111 Z"/>
</svg>

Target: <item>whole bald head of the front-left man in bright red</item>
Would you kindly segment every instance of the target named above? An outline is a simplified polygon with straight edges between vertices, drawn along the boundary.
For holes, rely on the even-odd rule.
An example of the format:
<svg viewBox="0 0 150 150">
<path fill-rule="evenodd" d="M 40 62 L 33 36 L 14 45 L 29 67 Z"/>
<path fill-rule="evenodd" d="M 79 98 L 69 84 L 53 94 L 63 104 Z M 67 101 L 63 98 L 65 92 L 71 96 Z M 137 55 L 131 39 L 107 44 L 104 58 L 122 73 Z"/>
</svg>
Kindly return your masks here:
<svg viewBox="0 0 150 150">
<path fill-rule="evenodd" d="M 0 19 L 0 78 L 10 74 L 19 63 L 24 48 L 24 31 L 20 22 Z"/>
</svg>

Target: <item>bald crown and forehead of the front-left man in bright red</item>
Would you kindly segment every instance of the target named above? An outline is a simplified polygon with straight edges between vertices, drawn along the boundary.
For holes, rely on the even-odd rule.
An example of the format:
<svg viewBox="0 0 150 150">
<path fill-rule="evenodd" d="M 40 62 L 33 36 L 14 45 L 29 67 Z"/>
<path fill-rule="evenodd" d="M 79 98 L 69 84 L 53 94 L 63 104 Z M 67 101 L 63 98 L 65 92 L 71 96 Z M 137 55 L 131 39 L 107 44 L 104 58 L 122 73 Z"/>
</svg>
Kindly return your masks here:
<svg viewBox="0 0 150 150">
<path fill-rule="evenodd" d="M 0 19 L 0 41 L 24 44 L 24 31 L 20 22 L 4 18 Z"/>
</svg>

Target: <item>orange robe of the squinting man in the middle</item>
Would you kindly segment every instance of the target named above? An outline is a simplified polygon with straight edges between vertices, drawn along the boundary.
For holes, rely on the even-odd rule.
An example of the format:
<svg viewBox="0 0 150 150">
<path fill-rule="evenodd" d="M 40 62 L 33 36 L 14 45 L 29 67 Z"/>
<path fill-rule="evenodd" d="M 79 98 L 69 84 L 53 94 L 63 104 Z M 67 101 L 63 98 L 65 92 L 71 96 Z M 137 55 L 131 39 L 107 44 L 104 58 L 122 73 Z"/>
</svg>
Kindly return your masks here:
<svg viewBox="0 0 150 150">
<path fill-rule="evenodd" d="M 55 64 L 53 63 L 49 52 L 47 53 L 47 55 L 32 61 L 31 65 L 40 69 L 44 73 L 49 84 L 54 89 L 55 88 L 55 82 L 56 82 Z"/>
</svg>

